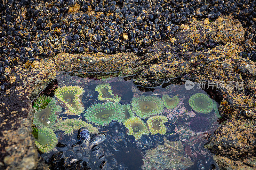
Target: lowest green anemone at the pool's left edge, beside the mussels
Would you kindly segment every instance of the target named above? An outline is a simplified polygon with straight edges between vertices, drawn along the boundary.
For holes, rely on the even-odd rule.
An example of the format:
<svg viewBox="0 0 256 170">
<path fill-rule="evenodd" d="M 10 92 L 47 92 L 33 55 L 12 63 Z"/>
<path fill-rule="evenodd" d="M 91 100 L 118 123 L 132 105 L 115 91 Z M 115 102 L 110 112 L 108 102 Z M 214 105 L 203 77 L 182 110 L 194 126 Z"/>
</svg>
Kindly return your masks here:
<svg viewBox="0 0 256 170">
<path fill-rule="evenodd" d="M 40 152 L 51 152 L 58 143 L 58 138 L 50 128 L 39 128 L 37 136 L 38 139 L 35 139 L 35 145 Z"/>
</svg>

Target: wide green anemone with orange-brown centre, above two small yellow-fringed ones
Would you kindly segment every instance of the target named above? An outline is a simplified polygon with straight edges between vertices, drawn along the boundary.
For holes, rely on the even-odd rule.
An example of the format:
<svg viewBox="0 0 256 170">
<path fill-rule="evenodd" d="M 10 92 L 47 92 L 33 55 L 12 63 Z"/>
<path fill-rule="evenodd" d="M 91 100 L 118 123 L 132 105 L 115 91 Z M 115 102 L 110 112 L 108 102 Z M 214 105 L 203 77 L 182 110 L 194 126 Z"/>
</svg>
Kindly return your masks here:
<svg viewBox="0 0 256 170">
<path fill-rule="evenodd" d="M 133 97 L 131 106 L 135 115 L 142 119 L 161 114 L 164 110 L 163 101 L 158 96 L 143 95 L 138 98 Z"/>
</svg>

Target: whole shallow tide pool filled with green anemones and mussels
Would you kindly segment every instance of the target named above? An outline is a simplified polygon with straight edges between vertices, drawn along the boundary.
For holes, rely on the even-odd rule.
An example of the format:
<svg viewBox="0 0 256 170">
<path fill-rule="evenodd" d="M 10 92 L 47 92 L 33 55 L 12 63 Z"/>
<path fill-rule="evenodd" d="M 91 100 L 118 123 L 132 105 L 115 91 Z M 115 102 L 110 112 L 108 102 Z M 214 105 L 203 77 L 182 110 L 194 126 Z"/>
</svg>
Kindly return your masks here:
<svg viewBox="0 0 256 170">
<path fill-rule="evenodd" d="M 33 101 L 36 147 L 51 169 L 218 169 L 204 144 L 219 127 L 219 96 L 125 80 L 58 73 Z"/>
</svg>

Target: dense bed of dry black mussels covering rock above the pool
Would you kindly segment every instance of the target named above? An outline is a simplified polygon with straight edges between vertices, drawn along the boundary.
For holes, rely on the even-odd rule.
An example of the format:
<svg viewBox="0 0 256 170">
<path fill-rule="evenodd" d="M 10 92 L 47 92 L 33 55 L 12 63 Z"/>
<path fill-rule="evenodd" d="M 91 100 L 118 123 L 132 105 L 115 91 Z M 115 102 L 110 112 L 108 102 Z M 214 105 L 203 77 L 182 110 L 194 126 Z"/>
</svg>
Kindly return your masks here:
<svg viewBox="0 0 256 170">
<path fill-rule="evenodd" d="M 0 80 L 5 67 L 58 53 L 143 53 L 172 37 L 188 18 L 233 13 L 246 27 L 245 52 L 255 58 L 255 0 L 21 0 L 0 1 Z M 202 48 L 214 47 L 215 43 Z"/>
</svg>

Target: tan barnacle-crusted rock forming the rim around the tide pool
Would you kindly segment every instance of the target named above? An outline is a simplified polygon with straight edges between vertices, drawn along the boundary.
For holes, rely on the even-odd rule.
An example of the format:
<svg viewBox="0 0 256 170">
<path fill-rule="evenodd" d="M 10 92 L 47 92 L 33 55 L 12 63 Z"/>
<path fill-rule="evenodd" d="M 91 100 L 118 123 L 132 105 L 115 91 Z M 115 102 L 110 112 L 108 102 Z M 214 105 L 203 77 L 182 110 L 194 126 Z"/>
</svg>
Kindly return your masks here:
<svg viewBox="0 0 256 170">
<path fill-rule="evenodd" d="M 215 45 L 201 49 L 212 39 Z M 133 75 L 142 86 L 161 85 L 164 79 L 179 77 L 194 82 L 222 82 L 220 115 L 227 118 L 206 145 L 220 169 L 255 168 L 255 79 L 256 65 L 242 58 L 244 50 L 242 25 L 232 17 L 219 17 L 214 22 L 191 19 L 181 26 L 169 41 L 156 42 L 134 53 L 59 54 L 31 65 L 6 70 L 11 85 L 0 94 L 0 167 L 33 169 L 38 164 L 31 122 L 30 101 L 55 78 L 59 71 L 76 70 L 76 74 L 105 72 Z M 6 72 L 5 71 L 5 72 Z M 172 81 L 173 80 L 173 81 Z M 231 82 L 244 82 L 236 89 Z M 170 83 L 175 83 L 171 79 Z M 220 149 L 221 148 L 221 149 Z M 253 156 L 254 155 L 254 156 Z M 11 159 L 12 158 L 12 159 Z M 42 167 L 42 162 L 38 164 Z"/>
</svg>

